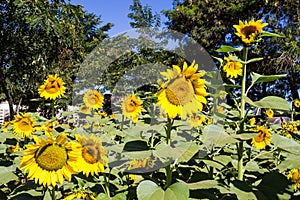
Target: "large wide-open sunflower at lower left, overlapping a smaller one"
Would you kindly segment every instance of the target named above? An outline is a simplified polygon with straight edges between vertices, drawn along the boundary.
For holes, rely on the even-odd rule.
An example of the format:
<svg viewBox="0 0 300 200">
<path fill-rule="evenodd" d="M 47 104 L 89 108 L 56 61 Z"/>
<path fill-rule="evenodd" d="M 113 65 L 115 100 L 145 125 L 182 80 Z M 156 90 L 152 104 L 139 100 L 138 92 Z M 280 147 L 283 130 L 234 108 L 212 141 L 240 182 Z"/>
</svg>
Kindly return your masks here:
<svg viewBox="0 0 300 200">
<path fill-rule="evenodd" d="M 81 154 L 81 145 L 77 142 L 66 142 L 67 135 L 62 133 L 53 138 L 39 139 L 34 137 L 35 144 L 26 145 L 21 158 L 21 169 L 29 171 L 28 178 L 45 187 L 61 184 L 64 177 L 71 181 L 72 174 L 77 173 L 75 161 Z"/>
</svg>

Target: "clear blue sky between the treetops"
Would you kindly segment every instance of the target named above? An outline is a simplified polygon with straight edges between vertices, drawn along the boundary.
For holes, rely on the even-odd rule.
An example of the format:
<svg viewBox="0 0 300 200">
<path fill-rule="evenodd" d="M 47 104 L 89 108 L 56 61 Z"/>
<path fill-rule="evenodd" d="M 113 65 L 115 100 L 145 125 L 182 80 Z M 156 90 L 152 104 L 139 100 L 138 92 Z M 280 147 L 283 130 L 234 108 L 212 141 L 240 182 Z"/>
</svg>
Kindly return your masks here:
<svg viewBox="0 0 300 200">
<path fill-rule="evenodd" d="M 111 22 L 114 27 L 109 31 L 109 35 L 117 35 L 131 29 L 130 19 L 127 17 L 129 6 L 133 0 L 71 0 L 72 4 L 81 4 L 88 12 L 101 16 L 103 24 Z M 142 5 L 148 4 L 153 12 L 160 13 L 161 10 L 172 9 L 172 0 L 140 0 Z M 164 22 L 166 18 L 161 15 Z"/>
</svg>

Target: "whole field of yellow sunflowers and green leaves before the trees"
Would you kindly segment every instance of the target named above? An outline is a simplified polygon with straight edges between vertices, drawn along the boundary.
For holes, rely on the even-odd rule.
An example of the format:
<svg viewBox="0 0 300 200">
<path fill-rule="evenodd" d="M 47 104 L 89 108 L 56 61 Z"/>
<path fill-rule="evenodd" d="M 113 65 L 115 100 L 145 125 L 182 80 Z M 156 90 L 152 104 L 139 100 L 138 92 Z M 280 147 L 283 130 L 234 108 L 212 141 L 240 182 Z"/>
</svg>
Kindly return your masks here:
<svg viewBox="0 0 300 200">
<path fill-rule="evenodd" d="M 123 93 L 113 112 L 91 87 L 77 95 L 78 109 L 58 117 L 56 101 L 70 88 L 48 75 L 36 92 L 51 117 L 20 112 L 1 127 L 0 199 L 300 198 L 300 100 L 248 96 L 255 84 L 286 76 L 247 71 L 262 60 L 248 59 L 260 42 L 282 37 L 267 25 L 240 21 L 241 45 L 216 50 L 224 56 L 214 57 L 217 70 L 168 66 L 155 91 Z M 228 81 L 216 85 L 220 73 Z"/>
</svg>

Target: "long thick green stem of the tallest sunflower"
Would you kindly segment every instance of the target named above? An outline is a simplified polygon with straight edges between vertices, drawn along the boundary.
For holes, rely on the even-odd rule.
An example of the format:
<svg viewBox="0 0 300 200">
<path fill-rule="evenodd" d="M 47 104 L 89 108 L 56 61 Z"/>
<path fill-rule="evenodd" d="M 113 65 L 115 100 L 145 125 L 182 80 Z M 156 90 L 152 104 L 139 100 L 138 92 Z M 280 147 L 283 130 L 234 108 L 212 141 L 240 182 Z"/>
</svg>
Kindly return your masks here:
<svg viewBox="0 0 300 200">
<path fill-rule="evenodd" d="M 243 60 L 245 63 L 247 62 L 248 56 L 248 47 L 244 47 L 243 49 Z M 241 91 L 241 111 L 240 111 L 240 133 L 244 131 L 244 121 L 245 121 L 245 95 L 246 95 L 246 80 L 247 80 L 247 66 L 244 64 L 243 67 L 243 77 L 242 77 L 242 91 Z M 237 151 L 238 151 L 238 180 L 242 181 L 244 176 L 244 169 L 243 169 L 243 152 L 244 152 L 244 144 L 243 141 L 240 141 L 237 144 Z"/>
</svg>

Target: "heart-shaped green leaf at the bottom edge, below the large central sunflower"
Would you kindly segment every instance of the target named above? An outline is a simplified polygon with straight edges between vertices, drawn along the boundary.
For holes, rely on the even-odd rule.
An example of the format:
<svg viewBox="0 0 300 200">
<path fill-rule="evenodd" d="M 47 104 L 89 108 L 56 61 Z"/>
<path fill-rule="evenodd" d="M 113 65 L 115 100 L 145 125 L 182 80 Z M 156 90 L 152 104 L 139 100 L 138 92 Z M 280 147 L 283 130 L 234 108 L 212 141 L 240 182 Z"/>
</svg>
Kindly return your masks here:
<svg viewBox="0 0 300 200">
<path fill-rule="evenodd" d="M 189 198 L 189 188 L 185 183 L 172 184 L 164 191 L 153 181 L 142 181 L 137 187 L 139 200 L 186 200 Z"/>
</svg>

